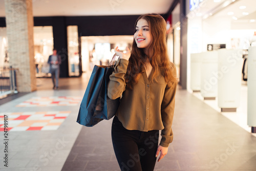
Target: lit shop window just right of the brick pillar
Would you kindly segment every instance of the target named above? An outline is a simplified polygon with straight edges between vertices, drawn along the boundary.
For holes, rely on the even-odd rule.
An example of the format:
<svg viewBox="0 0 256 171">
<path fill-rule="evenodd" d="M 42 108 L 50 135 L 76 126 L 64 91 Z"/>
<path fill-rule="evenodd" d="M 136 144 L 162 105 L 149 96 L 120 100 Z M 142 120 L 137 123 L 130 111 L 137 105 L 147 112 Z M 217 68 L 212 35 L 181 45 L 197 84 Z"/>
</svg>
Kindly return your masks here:
<svg viewBox="0 0 256 171">
<path fill-rule="evenodd" d="M 52 26 L 34 27 L 34 55 L 36 77 L 50 76 L 48 58 L 53 50 Z"/>
</svg>

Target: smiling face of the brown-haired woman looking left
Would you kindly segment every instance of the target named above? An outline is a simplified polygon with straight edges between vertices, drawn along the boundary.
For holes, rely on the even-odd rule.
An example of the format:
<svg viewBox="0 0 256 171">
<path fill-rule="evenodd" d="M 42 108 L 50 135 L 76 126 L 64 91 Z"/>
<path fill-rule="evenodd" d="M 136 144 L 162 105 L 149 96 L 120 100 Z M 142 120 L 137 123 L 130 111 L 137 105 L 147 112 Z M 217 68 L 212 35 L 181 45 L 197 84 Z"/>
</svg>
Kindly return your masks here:
<svg viewBox="0 0 256 171">
<path fill-rule="evenodd" d="M 147 49 L 152 43 L 152 36 L 150 32 L 150 25 L 145 19 L 139 19 L 136 25 L 134 38 L 138 48 Z"/>
</svg>

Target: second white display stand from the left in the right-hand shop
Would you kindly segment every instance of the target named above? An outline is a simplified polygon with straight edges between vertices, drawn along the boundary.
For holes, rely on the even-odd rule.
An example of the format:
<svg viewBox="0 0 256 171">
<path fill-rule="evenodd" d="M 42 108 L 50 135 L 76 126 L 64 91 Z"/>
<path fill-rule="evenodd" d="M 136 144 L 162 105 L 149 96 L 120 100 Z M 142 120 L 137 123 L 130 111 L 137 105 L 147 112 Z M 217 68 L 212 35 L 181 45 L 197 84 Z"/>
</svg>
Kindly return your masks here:
<svg viewBox="0 0 256 171">
<path fill-rule="evenodd" d="M 201 65 L 201 95 L 205 100 L 215 100 L 218 91 L 218 52 L 202 53 Z"/>
</svg>

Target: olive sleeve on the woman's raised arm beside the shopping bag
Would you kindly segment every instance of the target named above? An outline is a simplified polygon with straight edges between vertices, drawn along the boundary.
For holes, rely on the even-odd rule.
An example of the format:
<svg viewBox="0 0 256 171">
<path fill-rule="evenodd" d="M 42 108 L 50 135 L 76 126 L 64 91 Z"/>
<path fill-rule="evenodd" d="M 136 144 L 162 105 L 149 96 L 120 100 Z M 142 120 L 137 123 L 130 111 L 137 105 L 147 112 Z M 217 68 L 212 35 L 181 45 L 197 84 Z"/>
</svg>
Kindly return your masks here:
<svg viewBox="0 0 256 171">
<path fill-rule="evenodd" d="M 118 59 L 114 72 L 110 75 L 110 81 L 108 85 L 108 96 L 110 99 L 117 99 L 122 96 L 125 91 L 125 79 L 124 75 L 127 70 L 129 61 L 126 59 Z"/>
</svg>

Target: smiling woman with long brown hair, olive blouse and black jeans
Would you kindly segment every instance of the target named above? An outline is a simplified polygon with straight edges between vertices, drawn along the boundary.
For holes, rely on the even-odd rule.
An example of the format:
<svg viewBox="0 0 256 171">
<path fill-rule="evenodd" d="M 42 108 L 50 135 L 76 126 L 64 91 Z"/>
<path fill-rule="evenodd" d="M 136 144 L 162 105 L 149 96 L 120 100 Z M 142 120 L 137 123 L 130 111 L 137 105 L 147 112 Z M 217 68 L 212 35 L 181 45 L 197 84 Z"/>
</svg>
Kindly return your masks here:
<svg viewBox="0 0 256 171">
<path fill-rule="evenodd" d="M 112 123 L 112 142 L 122 171 L 153 171 L 173 141 L 172 123 L 178 79 L 166 47 L 161 15 L 141 15 L 132 49 L 120 56 L 110 76 L 108 96 L 121 97 Z M 159 130 L 161 141 L 158 145 Z"/>
</svg>

